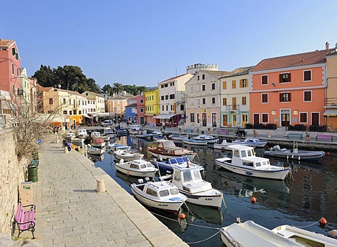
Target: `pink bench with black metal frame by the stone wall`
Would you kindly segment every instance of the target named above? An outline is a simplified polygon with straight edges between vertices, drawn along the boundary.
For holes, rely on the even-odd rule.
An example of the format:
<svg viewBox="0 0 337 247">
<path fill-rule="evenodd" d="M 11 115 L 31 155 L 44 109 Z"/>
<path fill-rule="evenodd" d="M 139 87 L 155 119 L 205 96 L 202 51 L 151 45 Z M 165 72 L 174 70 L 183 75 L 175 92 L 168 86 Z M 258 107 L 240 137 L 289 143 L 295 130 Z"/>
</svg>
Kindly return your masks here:
<svg viewBox="0 0 337 247">
<path fill-rule="evenodd" d="M 29 210 L 25 211 L 23 208 L 30 207 Z M 32 232 L 33 238 L 34 231 L 35 231 L 35 206 L 34 205 L 27 205 L 23 206 L 21 203 L 18 203 L 18 210 L 16 211 L 15 215 L 15 223 L 18 225 L 18 237 L 22 232 L 30 231 Z"/>
</svg>

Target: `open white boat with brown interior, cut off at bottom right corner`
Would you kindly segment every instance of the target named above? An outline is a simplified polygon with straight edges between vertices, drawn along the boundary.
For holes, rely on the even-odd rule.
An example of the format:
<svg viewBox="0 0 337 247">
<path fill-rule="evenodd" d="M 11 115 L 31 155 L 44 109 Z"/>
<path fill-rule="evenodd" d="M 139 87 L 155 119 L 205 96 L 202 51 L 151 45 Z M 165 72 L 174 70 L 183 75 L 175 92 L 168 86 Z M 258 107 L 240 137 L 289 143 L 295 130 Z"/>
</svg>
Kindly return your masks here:
<svg viewBox="0 0 337 247">
<path fill-rule="evenodd" d="M 284 239 L 289 239 L 289 241 L 292 241 L 293 243 L 297 243 L 298 246 L 337 246 L 337 239 L 290 225 L 275 227 L 272 229 L 272 232 L 275 232 L 278 236 L 284 237 Z"/>
</svg>

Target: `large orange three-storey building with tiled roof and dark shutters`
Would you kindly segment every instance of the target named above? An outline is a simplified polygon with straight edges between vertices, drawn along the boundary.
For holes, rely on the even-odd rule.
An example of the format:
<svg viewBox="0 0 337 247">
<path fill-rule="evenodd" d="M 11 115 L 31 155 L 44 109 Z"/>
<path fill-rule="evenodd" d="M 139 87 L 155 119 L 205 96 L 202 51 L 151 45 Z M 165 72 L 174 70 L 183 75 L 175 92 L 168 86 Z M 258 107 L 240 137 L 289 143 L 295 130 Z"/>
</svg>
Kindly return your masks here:
<svg viewBox="0 0 337 247">
<path fill-rule="evenodd" d="M 334 50 L 267 58 L 253 67 L 249 72 L 253 128 L 267 123 L 325 125 L 326 55 Z"/>
</svg>

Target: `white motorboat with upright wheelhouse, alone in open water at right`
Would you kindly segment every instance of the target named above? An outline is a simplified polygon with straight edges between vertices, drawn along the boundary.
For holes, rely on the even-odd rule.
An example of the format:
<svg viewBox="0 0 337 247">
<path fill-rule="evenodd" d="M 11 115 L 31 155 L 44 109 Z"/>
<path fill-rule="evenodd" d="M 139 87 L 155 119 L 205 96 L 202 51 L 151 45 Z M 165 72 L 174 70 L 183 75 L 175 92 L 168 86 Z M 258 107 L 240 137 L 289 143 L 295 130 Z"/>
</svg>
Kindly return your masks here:
<svg viewBox="0 0 337 247">
<path fill-rule="evenodd" d="M 276 180 L 284 180 L 290 173 L 290 168 L 272 166 L 269 159 L 255 156 L 253 147 L 230 145 L 227 148 L 232 150 L 232 158 L 216 159 L 216 164 L 233 173 Z"/>
</svg>

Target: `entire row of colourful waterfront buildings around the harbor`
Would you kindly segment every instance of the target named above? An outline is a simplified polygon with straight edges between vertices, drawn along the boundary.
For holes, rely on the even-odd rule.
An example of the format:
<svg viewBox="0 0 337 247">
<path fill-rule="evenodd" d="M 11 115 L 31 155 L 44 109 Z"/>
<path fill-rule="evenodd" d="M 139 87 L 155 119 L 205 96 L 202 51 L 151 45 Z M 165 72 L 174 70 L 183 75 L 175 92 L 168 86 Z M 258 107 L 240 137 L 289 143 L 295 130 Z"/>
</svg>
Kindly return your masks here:
<svg viewBox="0 0 337 247">
<path fill-rule="evenodd" d="M 324 50 L 267 58 L 231 72 L 194 64 L 142 95 L 44 88 L 20 68 L 15 41 L 0 39 L 1 114 L 11 97 L 32 111 L 55 113 L 55 123 L 78 126 L 126 119 L 152 126 L 245 127 L 328 126 L 337 128 L 337 52 Z"/>
</svg>

